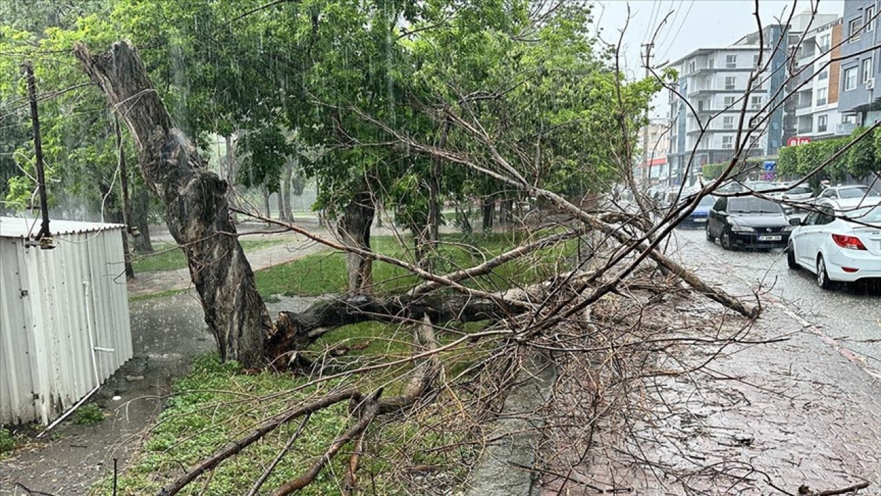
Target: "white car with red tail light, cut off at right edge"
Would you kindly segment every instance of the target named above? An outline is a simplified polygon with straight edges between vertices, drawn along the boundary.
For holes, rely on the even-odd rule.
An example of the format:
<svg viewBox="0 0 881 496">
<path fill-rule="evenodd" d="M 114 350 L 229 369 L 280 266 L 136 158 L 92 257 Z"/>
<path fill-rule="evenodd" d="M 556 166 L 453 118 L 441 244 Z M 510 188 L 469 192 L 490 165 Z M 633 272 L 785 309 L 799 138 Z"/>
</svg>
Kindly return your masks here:
<svg viewBox="0 0 881 496">
<path fill-rule="evenodd" d="M 833 282 L 881 278 L 881 199 L 825 199 L 789 237 L 791 269 L 817 274 L 820 288 Z"/>
</svg>

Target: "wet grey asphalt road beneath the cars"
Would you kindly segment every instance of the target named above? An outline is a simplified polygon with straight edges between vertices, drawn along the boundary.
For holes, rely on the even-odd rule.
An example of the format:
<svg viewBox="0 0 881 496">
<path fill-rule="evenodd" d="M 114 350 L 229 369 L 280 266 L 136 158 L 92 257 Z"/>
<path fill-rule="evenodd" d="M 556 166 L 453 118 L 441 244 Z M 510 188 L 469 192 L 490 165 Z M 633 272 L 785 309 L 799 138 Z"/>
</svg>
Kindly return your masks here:
<svg viewBox="0 0 881 496">
<path fill-rule="evenodd" d="M 725 281 L 727 288 L 744 293 L 747 287 L 760 288 L 767 302 L 795 312 L 837 346 L 855 351 L 871 368 L 881 370 L 881 283 L 819 289 L 810 272 L 788 269 L 782 250 L 728 252 L 697 229 L 677 229 L 670 252 L 698 274 Z"/>
</svg>

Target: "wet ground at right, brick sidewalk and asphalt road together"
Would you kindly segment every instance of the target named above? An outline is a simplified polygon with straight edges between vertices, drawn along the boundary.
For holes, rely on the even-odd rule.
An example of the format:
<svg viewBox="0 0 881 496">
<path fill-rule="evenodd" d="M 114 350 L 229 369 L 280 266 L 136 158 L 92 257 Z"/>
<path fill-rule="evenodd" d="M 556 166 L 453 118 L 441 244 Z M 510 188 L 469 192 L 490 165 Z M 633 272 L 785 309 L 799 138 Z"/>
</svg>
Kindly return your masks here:
<svg viewBox="0 0 881 496">
<path fill-rule="evenodd" d="M 692 346 L 675 359 L 655 353 L 657 369 L 695 369 L 649 376 L 626 399 L 603 396 L 600 404 L 629 407 L 596 428 L 587 427 L 594 422 L 583 400 L 552 405 L 581 421 L 545 448 L 541 495 L 795 495 L 801 485 L 830 491 L 862 482 L 870 487 L 859 494 L 881 494 L 878 289 L 824 291 L 810 274 L 790 272 L 780 250 L 726 252 L 700 230 L 677 231 L 669 252 L 730 293 L 747 296 L 761 284 L 765 311 L 741 339 L 766 343 L 718 354 Z M 726 335 L 697 325 L 707 308 L 722 311 L 694 300 L 664 312 L 691 316 L 695 326 L 686 328 L 695 335 Z M 726 326 L 743 323 L 731 316 Z M 588 429 L 584 455 L 574 440 Z"/>
</svg>

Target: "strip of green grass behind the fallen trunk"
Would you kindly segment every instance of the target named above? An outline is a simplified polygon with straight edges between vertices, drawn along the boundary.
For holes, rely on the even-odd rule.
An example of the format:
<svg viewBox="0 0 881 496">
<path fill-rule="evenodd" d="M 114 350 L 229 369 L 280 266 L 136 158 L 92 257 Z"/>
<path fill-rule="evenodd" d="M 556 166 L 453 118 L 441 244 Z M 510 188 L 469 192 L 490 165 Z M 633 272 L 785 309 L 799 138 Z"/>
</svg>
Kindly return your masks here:
<svg viewBox="0 0 881 496">
<path fill-rule="evenodd" d="M 516 233 L 489 236 L 461 237 L 441 236 L 441 249 L 434 259 L 434 272 L 446 274 L 459 268 L 471 267 L 492 258 L 517 244 L 522 235 Z M 396 237 L 373 237 L 374 251 L 396 259 L 413 263 L 412 241 L 402 246 Z M 497 267 L 492 274 L 477 281 L 463 282 L 466 286 L 496 291 L 513 285 L 536 282 L 552 272 L 560 260 L 574 256 L 574 242 L 559 244 L 537 252 L 533 257 L 514 260 Z M 409 289 L 418 282 L 417 276 L 403 267 L 374 261 L 374 284 L 378 292 Z M 284 294 L 286 296 L 320 296 L 344 292 L 347 285 L 343 253 L 322 252 L 302 259 L 270 267 L 255 273 L 257 289 L 263 296 Z"/>
</svg>

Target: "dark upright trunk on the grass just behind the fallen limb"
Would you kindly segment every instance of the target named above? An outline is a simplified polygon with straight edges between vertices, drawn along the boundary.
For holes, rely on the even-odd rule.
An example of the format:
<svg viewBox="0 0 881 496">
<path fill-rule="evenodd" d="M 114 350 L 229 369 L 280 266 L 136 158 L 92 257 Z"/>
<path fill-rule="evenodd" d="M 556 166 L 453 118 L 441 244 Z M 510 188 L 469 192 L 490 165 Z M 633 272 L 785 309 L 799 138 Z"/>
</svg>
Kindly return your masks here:
<svg viewBox="0 0 881 496">
<path fill-rule="evenodd" d="M 337 222 L 337 233 L 343 244 L 370 250 L 370 228 L 375 213 L 374 195 L 366 190 L 356 193 Z M 345 263 L 349 271 L 349 291 L 372 293 L 373 260 L 356 253 L 346 253 Z"/>
</svg>

